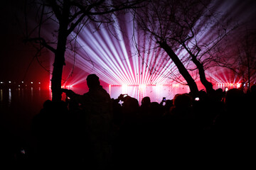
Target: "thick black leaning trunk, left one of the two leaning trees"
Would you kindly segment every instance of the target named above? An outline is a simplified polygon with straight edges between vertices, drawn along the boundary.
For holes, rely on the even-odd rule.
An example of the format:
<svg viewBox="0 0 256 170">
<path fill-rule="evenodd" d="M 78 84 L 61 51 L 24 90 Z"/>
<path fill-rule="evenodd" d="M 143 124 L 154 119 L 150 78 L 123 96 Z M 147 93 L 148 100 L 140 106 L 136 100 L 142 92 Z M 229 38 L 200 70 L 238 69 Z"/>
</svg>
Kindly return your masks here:
<svg viewBox="0 0 256 170">
<path fill-rule="evenodd" d="M 195 97 L 198 94 L 198 87 L 196 85 L 196 82 L 194 79 L 191 77 L 191 74 L 188 73 L 188 70 L 186 67 L 184 67 L 183 63 L 181 60 L 179 60 L 178 56 L 175 54 L 173 50 L 171 50 L 171 47 L 167 45 L 166 42 L 159 42 L 159 45 L 161 48 L 163 48 L 171 60 L 176 64 L 176 67 L 178 68 L 178 72 L 181 73 L 183 78 L 187 81 L 189 89 L 191 90 L 192 95 Z"/>
</svg>

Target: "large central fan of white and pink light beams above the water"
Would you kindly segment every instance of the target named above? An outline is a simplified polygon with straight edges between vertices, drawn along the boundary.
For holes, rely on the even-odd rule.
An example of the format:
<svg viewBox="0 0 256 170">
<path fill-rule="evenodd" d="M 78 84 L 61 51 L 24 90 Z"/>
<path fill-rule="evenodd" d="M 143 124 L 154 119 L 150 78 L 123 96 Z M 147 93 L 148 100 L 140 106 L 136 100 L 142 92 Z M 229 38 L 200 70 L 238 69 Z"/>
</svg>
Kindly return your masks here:
<svg viewBox="0 0 256 170">
<path fill-rule="evenodd" d="M 76 51 L 75 67 L 83 72 L 76 73 L 69 84 L 85 81 L 86 74 L 92 73 L 112 85 L 169 84 L 166 77 L 169 70 L 176 67 L 171 60 L 166 59 L 168 57 L 156 47 L 155 42 L 147 41 L 143 36 L 137 43 L 143 44 L 145 49 L 155 50 L 143 52 L 143 56 L 139 56 L 132 43 L 132 16 L 125 17 L 125 21 L 116 18 L 114 25 L 102 26 L 100 30 L 95 30 L 95 25 L 91 24 L 80 32 L 76 39 L 80 47 Z M 124 27 L 125 33 L 121 31 Z M 66 61 L 72 63 L 73 57 L 67 55 Z"/>
</svg>

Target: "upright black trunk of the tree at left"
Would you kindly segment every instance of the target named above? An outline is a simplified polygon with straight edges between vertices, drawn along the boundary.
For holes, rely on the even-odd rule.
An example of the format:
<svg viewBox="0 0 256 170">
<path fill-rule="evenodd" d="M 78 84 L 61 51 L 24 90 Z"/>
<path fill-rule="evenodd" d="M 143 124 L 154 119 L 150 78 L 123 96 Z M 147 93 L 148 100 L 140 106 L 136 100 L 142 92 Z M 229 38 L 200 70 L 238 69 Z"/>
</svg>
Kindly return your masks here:
<svg viewBox="0 0 256 170">
<path fill-rule="evenodd" d="M 53 63 L 53 77 L 51 79 L 51 89 L 53 93 L 52 101 L 61 101 L 61 80 L 63 74 L 63 66 L 65 65 L 65 45 L 68 38 L 68 17 L 70 6 L 64 1 L 63 11 L 59 20 L 58 44 L 55 52 L 55 60 Z"/>
</svg>

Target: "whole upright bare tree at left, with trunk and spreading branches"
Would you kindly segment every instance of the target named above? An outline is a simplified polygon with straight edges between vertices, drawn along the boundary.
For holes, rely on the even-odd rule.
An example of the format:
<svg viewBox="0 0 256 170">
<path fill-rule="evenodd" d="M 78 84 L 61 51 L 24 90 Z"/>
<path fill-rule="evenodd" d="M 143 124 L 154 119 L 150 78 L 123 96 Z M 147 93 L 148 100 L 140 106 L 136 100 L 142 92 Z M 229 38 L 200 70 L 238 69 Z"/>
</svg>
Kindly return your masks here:
<svg viewBox="0 0 256 170">
<path fill-rule="evenodd" d="M 72 46 L 72 41 L 87 24 L 96 23 L 97 27 L 100 27 L 100 23 L 112 23 L 114 12 L 138 8 L 141 3 L 142 0 L 32 0 L 28 2 L 28 4 L 36 4 L 37 23 L 31 31 L 27 28 L 26 42 L 38 43 L 39 51 L 47 48 L 55 55 L 51 78 L 53 101 L 61 100 L 60 89 L 67 44 L 70 44 L 69 47 L 75 47 L 75 45 Z M 26 23 L 28 22 L 26 17 Z M 43 34 L 43 29 L 54 30 L 50 39 Z"/>
</svg>

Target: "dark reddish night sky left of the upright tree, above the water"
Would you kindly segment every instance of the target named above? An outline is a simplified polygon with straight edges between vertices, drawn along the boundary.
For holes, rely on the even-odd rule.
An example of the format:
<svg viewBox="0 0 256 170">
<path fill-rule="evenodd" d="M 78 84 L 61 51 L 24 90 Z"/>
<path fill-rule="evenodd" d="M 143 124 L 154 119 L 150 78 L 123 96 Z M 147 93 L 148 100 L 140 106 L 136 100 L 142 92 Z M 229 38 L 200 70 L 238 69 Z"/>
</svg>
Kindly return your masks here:
<svg viewBox="0 0 256 170">
<path fill-rule="evenodd" d="M 49 77 L 33 60 L 33 48 L 23 43 L 23 6 L 23 1 L 1 1 L 1 81 L 40 81 Z"/>
</svg>

